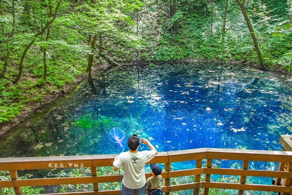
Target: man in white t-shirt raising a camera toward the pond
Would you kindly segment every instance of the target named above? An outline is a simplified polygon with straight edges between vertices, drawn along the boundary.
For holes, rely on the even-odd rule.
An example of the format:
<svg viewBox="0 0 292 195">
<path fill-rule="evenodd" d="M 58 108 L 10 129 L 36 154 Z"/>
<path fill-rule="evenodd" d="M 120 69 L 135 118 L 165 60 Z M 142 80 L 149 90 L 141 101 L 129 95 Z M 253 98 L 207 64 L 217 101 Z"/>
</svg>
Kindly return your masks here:
<svg viewBox="0 0 292 195">
<path fill-rule="evenodd" d="M 128 152 L 123 152 L 113 160 L 113 170 L 124 167 L 123 194 L 144 195 L 146 190 L 145 164 L 157 155 L 155 147 L 146 139 L 142 143 L 148 145 L 150 151 L 138 152 L 140 139 L 137 135 L 128 138 Z"/>
</svg>

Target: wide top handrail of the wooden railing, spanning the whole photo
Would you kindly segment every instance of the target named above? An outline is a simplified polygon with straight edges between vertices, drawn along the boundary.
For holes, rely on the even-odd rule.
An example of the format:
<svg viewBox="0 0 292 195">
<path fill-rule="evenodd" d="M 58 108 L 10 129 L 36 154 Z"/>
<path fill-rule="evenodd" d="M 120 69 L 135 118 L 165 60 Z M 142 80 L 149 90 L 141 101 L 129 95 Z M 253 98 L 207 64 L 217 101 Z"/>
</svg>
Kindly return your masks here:
<svg viewBox="0 0 292 195">
<path fill-rule="evenodd" d="M 257 151 L 201 148 L 184 151 L 172 151 L 159 154 L 153 159 L 157 163 L 196 160 L 202 158 L 230 159 L 230 160 L 256 160 L 273 162 L 292 162 L 292 152 L 281 151 Z M 78 167 L 112 166 L 115 155 L 91 155 L 91 156 L 47 156 L 47 157 L 18 157 L 0 158 L 0 170 L 26 170 L 26 169 L 54 169 Z M 64 166 L 62 167 L 61 166 Z M 81 165 L 82 164 L 82 165 Z"/>
</svg>

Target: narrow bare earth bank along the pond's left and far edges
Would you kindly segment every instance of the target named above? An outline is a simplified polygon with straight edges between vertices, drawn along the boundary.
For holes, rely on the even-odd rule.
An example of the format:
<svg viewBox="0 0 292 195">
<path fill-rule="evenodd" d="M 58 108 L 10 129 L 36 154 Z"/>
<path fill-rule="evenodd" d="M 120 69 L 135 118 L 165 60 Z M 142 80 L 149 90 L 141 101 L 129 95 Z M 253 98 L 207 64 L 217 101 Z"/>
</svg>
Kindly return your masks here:
<svg viewBox="0 0 292 195">
<path fill-rule="evenodd" d="M 193 62 L 205 62 L 205 63 L 229 63 L 230 65 L 246 65 L 248 67 L 252 67 L 255 69 L 260 69 L 256 63 L 253 62 L 238 62 L 238 61 L 230 61 L 230 62 L 222 62 L 222 61 L 217 61 L 217 60 L 202 60 L 202 59 L 184 59 L 184 60 L 173 60 L 173 61 L 134 61 L 133 63 L 124 63 L 122 66 L 131 66 L 131 65 L 141 65 L 141 66 L 146 66 L 149 63 L 154 63 L 154 64 L 164 64 L 164 63 L 193 63 Z M 92 73 L 98 71 L 101 68 L 105 67 L 110 67 L 109 64 L 104 63 L 104 64 L 96 64 L 94 67 L 92 67 Z M 269 68 L 266 70 L 262 71 L 268 71 L 272 72 L 274 74 L 284 74 L 284 75 L 292 75 L 292 72 L 288 72 L 285 69 L 282 69 L 281 66 L 274 66 L 273 68 Z M 47 94 L 45 96 L 45 100 L 41 103 L 38 104 L 36 102 L 29 102 L 27 104 L 27 107 L 29 108 L 29 111 L 21 111 L 21 114 L 17 117 L 14 117 L 12 121 L 9 122 L 3 122 L 0 124 L 0 136 L 6 133 L 7 131 L 11 130 L 12 128 L 18 126 L 20 123 L 23 121 L 27 120 L 29 117 L 33 116 L 39 109 L 45 108 L 47 106 L 50 106 L 52 103 L 55 103 L 56 101 L 60 100 L 64 96 L 68 95 L 81 81 L 83 81 L 85 78 L 87 78 L 86 74 L 80 75 L 76 78 L 74 82 L 71 83 L 66 83 L 64 87 L 59 89 L 57 92 L 52 93 L 52 94 Z"/>
</svg>

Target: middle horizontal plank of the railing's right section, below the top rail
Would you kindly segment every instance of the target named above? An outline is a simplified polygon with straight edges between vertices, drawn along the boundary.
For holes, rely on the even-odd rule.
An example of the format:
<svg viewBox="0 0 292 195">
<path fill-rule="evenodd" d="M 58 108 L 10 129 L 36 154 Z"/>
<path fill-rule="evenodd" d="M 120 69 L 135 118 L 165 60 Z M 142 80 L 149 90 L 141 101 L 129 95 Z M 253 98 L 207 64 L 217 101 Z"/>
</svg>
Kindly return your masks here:
<svg viewBox="0 0 292 195">
<path fill-rule="evenodd" d="M 224 169 L 224 168 L 203 168 L 203 171 L 204 171 L 204 174 L 213 174 L 213 175 L 292 178 L 292 173 L 285 172 L 285 171 L 242 170 L 242 169 Z"/>
</svg>

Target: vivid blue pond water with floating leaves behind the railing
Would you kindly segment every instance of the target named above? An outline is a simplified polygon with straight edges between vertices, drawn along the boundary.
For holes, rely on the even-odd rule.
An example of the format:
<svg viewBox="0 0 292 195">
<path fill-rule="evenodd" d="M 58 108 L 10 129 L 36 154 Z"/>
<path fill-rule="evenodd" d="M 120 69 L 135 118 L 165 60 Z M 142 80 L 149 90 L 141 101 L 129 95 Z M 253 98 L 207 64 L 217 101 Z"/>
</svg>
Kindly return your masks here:
<svg viewBox="0 0 292 195">
<path fill-rule="evenodd" d="M 114 154 L 113 127 L 146 137 L 158 151 L 281 150 L 279 135 L 292 133 L 291 89 L 291 78 L 230 64 L 100 70 L 1 136 L 0 157 Z"/>
</svg>

